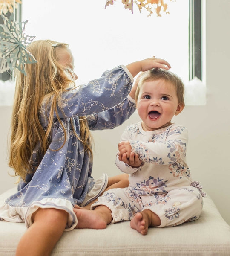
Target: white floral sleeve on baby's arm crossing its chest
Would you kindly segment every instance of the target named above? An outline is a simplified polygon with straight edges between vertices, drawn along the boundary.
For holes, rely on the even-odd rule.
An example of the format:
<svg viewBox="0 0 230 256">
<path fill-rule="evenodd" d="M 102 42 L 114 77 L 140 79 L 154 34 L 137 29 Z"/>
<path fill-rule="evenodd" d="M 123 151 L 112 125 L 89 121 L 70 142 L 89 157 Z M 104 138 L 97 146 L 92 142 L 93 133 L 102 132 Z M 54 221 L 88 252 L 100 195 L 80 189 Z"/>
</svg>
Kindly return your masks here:
<svg viewBox="0 0 230 256">
<path fill-rule="evenodd" d="M 166 140 L 155 142 L 130 141 L 132 151 L 147 163 L 170 164 L 186 156 L 188 142 L 187 129 L 173 126 Z"/>
</svg>

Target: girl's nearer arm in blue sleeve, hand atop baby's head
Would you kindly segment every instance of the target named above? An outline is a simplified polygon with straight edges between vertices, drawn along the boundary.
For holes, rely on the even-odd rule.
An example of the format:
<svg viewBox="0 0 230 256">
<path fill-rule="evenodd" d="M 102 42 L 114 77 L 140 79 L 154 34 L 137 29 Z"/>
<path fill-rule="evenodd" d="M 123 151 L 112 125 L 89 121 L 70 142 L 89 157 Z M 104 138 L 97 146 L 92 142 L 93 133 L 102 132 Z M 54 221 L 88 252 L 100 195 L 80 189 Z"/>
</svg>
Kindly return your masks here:
<svg viewBox="0 0 230 256">
<path fill-rule="evenodd" d="M 85 116 L 106 111 L 118 105 L 130 92 L 133 77 L 139 72 L 150 70 L 153 67 L 169 69 L 170 64 L 157 58 L 135 61 L 127 66 L 107 70 L 100 79 L 90 81 L 87 86 L 81 86 L 76 97 L 69 95 L 71 93 L 69 91 L 66 96 L 63 95 L 65 116 Z"/>
</svg>

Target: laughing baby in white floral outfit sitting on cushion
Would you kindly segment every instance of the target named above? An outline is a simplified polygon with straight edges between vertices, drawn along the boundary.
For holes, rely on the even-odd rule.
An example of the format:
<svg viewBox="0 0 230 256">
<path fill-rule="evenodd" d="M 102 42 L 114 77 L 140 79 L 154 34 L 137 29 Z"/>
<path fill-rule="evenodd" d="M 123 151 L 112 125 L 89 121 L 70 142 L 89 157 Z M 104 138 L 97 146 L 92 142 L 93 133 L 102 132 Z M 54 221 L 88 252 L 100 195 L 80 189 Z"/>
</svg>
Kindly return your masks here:
<svg viewBox="0 0 230 256">
<path fill-rule="evenodd" d="M 142 121 L 122 134 L 116 161 L 129 173 L 129 187 L 108 190 L 91 211 L 75 209 L 78 228 L 130 221 L 146 235 L 149 227 L 199 218 L 204 193 L 186 163 L 187 129 L 171 121 L 184 109 L 183 82 L 170 71 L 154 68 L 139 77 L 135 100 Z"/>
</svg>

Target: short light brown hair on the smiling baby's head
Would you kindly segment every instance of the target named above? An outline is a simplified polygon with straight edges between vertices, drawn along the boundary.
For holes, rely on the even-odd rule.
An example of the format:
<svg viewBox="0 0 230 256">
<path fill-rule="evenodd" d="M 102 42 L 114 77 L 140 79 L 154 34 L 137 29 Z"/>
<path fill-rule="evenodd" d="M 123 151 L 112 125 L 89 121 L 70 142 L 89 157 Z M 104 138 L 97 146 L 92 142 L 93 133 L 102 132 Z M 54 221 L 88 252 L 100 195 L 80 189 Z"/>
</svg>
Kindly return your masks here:
<svg viewBox="0 0 230 256">
<path fill-rule="evenodd" d="M 163 79 L 173 84 L 176 90 L 176 95 L 178 98 L 178 103 L 184 106 L 184 83 L 183 81 L 174 73 L 169 70 L 161 68 L 153 68 L 152 70 L 145 71 L 141 74 L 138 81 L 138 87 L 135 93 L 135 100 L 137 102 L 138 95 L 140 92 L 140 87 L 146 81 L 155 81 L 158 79 Z"/>
</svg>

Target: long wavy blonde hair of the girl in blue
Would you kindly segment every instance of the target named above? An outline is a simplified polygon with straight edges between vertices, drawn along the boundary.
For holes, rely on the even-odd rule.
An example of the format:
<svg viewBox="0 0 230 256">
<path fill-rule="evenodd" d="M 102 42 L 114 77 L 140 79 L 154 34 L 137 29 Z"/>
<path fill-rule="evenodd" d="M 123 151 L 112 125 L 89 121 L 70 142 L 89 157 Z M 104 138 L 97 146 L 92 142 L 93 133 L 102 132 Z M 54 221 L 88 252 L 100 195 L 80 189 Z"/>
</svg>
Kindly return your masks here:
<svg viewBox="0 0 230 256">
<path fill-rule="evenodd" d="M 58 116 L 57 105 L 60 106 L 61 93 L 70 87 L 75 87 L 75 81 L 73 70 L 58 63 L 57 58 L 60 49 L 69 50 L 68 47 L 68 44 L 51 40 L 32 42 L 28 50 L 35 56 L 37 63 L 25 65 L 27 76 L 23 73 L 17 74 L 11 120 L 9 166 L 14 169 L 15 175 L 19 175 L 23 180 L 26 179 L 27 174 L 36 171 L 44 153 L 49 148 L 54 113 L 64 130 L 63 145 L 66 141 L 67 135 Z M 46 131 L 43 130 L 39 121 L 39 110 L 44 96 L 48 96 L 51 101 Z M 92 137 L 88 122 L 85 116 L 79 117 L 79 121 L 81 136 L 78 137 L 76 133 L 75 136 L 83 142 L 85 151 L 92 157 Z M 72 119 L 71 122 L 73 122 Z M 36 166 L 32 166 L 30 161 L 32 152 L 37 147 L 39 148 L 37 155 L 40 159 Z"/>
</svg>

